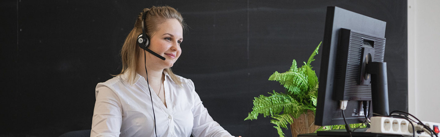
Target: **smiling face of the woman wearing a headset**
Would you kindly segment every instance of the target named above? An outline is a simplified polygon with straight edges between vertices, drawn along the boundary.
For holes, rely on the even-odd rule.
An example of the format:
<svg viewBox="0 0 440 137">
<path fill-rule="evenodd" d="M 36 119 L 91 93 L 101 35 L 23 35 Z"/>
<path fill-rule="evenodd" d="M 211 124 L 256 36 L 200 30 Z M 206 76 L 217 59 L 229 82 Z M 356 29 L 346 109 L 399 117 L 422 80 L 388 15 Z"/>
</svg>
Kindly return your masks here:
<svg viewBox="0 0 440 137">
<path fill-rule="evenodd" d="M 157 32 L 150 38 L 149 49 L 165 57 L 165 60 L 146 52 L 148 56 L 147 63 L 154 64 L 155 67 L 160 69 L 172 67 L 182 52 L 180 49 L 180 43 L 183 41 L 182 32 L 182 25 L 177 19 L 167 19 L 164 23 L 158 25 Z"/>
</svg>

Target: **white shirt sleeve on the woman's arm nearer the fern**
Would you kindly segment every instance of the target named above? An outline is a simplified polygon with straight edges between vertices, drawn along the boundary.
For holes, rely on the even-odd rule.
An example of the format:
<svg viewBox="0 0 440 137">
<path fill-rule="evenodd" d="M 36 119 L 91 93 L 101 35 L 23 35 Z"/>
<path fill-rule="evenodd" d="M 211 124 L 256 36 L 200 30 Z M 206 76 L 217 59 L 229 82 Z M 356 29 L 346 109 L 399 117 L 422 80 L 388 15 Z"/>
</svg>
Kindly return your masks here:
<svg viewBox="0 0 440 137">
<path fill-rule="evenodd" d="M 203 106 L 200 97 L 194 91 L 194 83 L 191 80 L 189 81 L 193 87 L 192 96 L 194 98 L 192 135 L 194 137 L 234 137 L 209 116 L 208 110 Z"/>
</svg>

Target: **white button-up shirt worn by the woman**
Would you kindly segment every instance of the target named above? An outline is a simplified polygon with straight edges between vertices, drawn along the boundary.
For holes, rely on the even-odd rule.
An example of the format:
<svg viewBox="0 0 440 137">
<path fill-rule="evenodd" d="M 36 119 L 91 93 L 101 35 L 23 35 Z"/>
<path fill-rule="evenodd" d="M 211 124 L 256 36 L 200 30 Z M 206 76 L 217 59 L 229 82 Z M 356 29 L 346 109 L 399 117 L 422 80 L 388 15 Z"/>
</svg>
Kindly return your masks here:
<svg viewBox="0 0 440 137">
<path fill-rule="evenodd" d="M 127 74 L 98 83 L 91 137 L 156 137 L 151 105 L 158 137 L 233 137 L 209 116 L 190 79 L 177 76 L 180 87 L 164 74 L 167 107 L 150 87 L 151 104 L 147 81 L 139 74 L 134 84 L 126 81 Z"/>
</svg>

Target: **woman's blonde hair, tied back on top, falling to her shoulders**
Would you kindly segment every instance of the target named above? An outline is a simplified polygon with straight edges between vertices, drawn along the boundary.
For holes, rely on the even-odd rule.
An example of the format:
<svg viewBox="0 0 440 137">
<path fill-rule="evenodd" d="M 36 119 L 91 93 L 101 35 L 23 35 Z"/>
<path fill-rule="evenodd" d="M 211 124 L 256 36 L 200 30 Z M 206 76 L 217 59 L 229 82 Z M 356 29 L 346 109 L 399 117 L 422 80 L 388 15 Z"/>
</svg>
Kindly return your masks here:
<svg viewBox="0 0 440 137">
<path fill-rule="evenodd" d="M 165 22 L 167 19 L 177 19 L 182 25 L 183 30 L 186 29 L 186 24 L 183 22 L 182 15 L 176 9 L 163 6 L 163 7 L 151 7 L 150 9 L 144 8 L 143 12 L 139 13 L 136 18 L 136 23 L 132 31 L 128 33 L 127 38 L 125 39 L 124 45 L 121 49 L 121 58 L 122 58 L 122 70 L 120 74 L 122 75 L 128 73 L 127 80 L 129 83 L 134 84 L 137 72 L 137 62 L 139 57 L 139 52 L 141 49 L 137 43 L 137 37 L 142 34 L 142 16 L 147 12 L 147 17 L 145 18 L 144 27 L 145 33 L 150 36 L 153 36 L 155 32 L 158 30 L 158 25 Z M 176 77 L 176 74 L 172 72 L 170 68 L 166 68 L 165 72 L 169 74 L 171 79 L 179 86 L 181 86 L 182 81 Z M 115 75 L 115 76 L 117 76 Z"/>
</svg>

